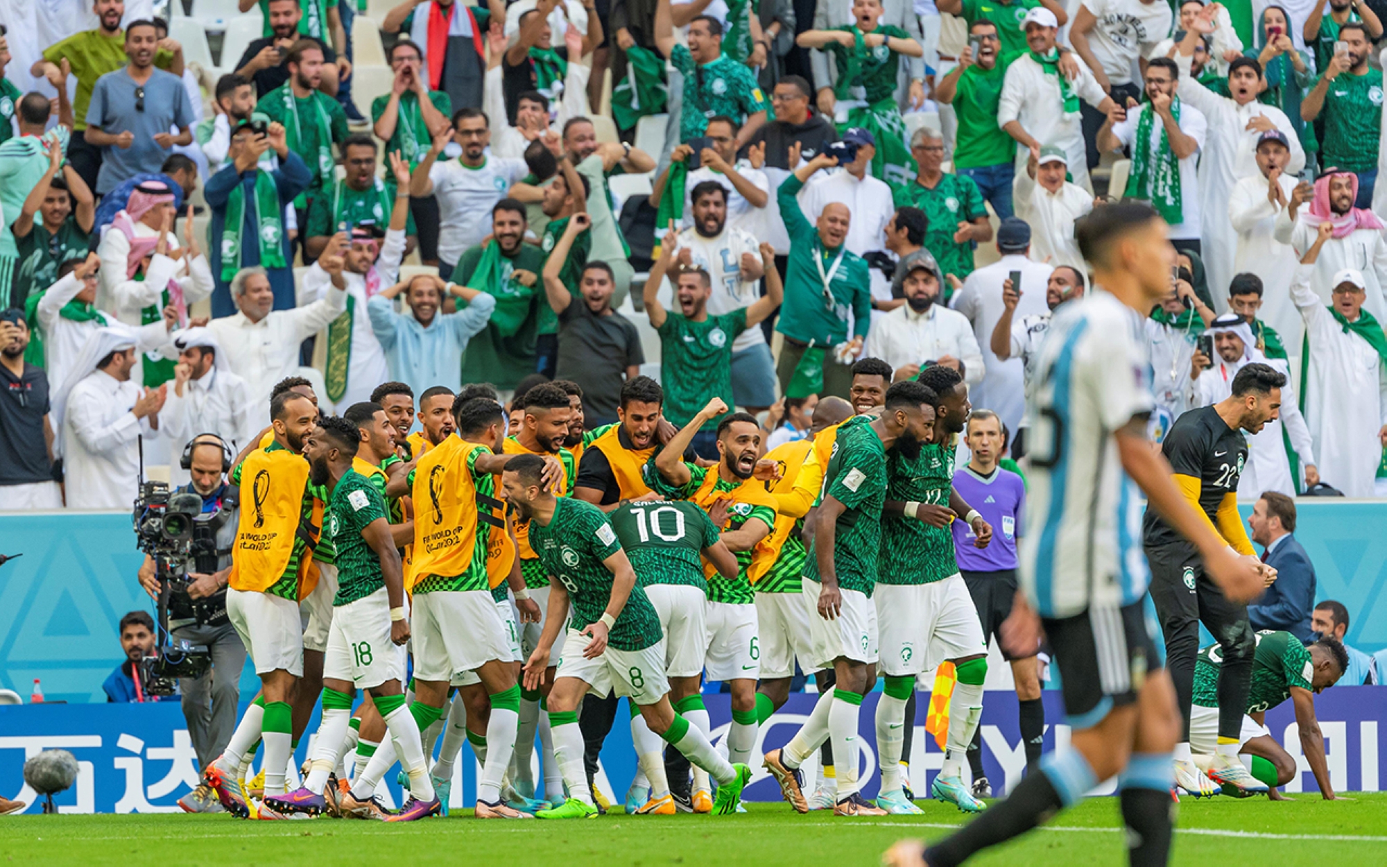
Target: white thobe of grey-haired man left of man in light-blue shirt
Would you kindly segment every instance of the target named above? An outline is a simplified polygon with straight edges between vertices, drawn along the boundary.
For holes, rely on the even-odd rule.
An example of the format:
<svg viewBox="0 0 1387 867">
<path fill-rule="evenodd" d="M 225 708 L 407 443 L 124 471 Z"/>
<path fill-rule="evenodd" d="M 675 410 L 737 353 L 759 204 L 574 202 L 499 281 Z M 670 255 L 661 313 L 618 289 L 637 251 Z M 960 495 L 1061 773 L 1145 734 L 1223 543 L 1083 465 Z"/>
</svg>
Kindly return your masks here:
<svg viewBox="0 0 1387 867">
<path fill-rule="evenodd" d="M 298 375 L 298 345 L 320 332 L 347 309 L 347 293 L 329 291 L 325 298 L 291 311 L 273 311 L 259 322 L 245 314 L 212 319 L 208 327 L 225 354 L 226 366 L 245 380 L 251 404 L 268 405 L 275 383 Z M 369 319 L 359 305 L 359 319 Z M 268 411 L 261 418 L 269 418 Z"/>
</svg>

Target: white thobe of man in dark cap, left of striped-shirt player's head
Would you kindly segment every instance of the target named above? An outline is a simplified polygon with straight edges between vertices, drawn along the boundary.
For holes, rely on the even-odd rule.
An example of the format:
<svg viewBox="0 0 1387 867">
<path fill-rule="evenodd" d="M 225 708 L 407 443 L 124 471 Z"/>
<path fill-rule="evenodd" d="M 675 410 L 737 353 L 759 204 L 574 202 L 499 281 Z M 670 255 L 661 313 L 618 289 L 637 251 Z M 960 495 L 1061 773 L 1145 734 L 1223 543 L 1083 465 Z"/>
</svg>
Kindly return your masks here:
<svg viewBox="0 0 1387 867">
<path fill-rule="evenodd" d="M 1021 272 L 1021 301 L 1013 316 L 1021 319 L 1050 312 L 1044 302 L 1044 286 L 1054 268 L 1019 252 L 1003 255 L 992 265 L 968 275 L 963 289 L 954 293 L 951 307 L 972 322 L 972 334 L 988 369 L 978 387 L 971 390 L 972 405 L 996 412 L 1003 424 L 1019 430 L 1021 416 L 1026 411 L 1025 365 L 1019 358 L 1001 361 L 992 352 L 992 332 L 1006 309 L 1001 283 L 1013 271 Z"/>
</svg>

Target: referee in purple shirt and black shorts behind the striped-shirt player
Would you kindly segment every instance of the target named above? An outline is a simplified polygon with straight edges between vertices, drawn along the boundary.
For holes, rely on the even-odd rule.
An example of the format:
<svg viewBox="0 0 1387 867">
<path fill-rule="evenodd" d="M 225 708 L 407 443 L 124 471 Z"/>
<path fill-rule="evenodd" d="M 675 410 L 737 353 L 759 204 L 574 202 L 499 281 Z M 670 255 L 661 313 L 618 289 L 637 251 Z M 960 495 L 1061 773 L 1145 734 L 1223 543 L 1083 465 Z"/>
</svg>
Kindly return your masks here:
<svg viewBox="0 0 1387 867">
<path fill-rule="evenodd" d="M 990 409 L 974 409 L 968 416 L 967 466 L 954 473 L 954 490 L 975 504 L 993 530 L 992 544 L 976 548 L 972 529 L 961 522 L 951 524 L 954 553 L 974 608 L 982 623 L 982 638 L 996 637 L 1001 658 L 1011 663 L 1021 716 L 1021 742 L 1026 767 L 1035 769 L 1044 744 L 1044 703 L 1040 701 L 1040 671 L 1036 651 L 1014 655 L 1001 642 L 1001 624 L 1011 615 L 1017 598 L 1017 540 L 1025 523 L 1026 487 L 1021 476 L 999 466 L 1006 448 L 1001 419 Z M 1000 533 L 997 530 L 1000 529 Z M 974 731 L 968 746 L 972 767 L 972 796 L 992 798 L 992 787 L 982 769 L 982 735 Z"/>
</svg>

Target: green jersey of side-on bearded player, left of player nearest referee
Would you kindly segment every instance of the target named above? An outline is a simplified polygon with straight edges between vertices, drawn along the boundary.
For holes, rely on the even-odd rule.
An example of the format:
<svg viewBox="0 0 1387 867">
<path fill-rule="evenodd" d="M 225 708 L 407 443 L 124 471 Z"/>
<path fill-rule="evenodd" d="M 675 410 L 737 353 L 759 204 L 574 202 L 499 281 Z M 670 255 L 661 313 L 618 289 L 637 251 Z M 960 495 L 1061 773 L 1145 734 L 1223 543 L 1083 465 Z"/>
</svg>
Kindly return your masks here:
<svg viewBox="0 0 1387 867">
<path fill-rule="evenodd" d="M 871 598 L 881 551 L 881 508 L 886 502 L 886 449 L 877 431 L 867 424 L 838 429 L 832 455 L 824 467 L 822 497 L 832 497 L 847 506 L 835 522 L 834 570 L 838 585 Z M 804 577 L 818 580 L 813 547 L 804 560 Z"/>
</svg>

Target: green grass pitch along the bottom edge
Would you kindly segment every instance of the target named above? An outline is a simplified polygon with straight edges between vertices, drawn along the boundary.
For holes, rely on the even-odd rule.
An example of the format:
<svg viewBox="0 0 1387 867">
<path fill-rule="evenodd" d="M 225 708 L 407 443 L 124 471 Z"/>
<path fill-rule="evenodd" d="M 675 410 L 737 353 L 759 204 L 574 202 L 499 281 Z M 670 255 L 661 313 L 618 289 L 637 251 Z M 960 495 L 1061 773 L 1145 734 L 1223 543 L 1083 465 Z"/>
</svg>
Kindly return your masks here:
<svg viewBox="0 0 1387 867">
<path fill-rule="evenodd" d="M 1186 799 L 1179 806 L 1176 864 L 1234 866 L 1387 863 L 1387 793 L 1290 803 L 1257 798 Z M 229 816 L 18 816 L 0 818 L 0 861 L 155 864 L 878 864 L 903 836 L 935 838 L 963 821 L 920 802 L 925 814 L 843 820 L 796 816 L 786 805 L 750 805 L 732 817 L 608 816 L 594 821 L 502 823 L 452 818 L 394 825 L 319 818 L 248 823 Z M 1123 864 L 1117 800 L 1089 800 L 976 864 Z"/>
</svg>

